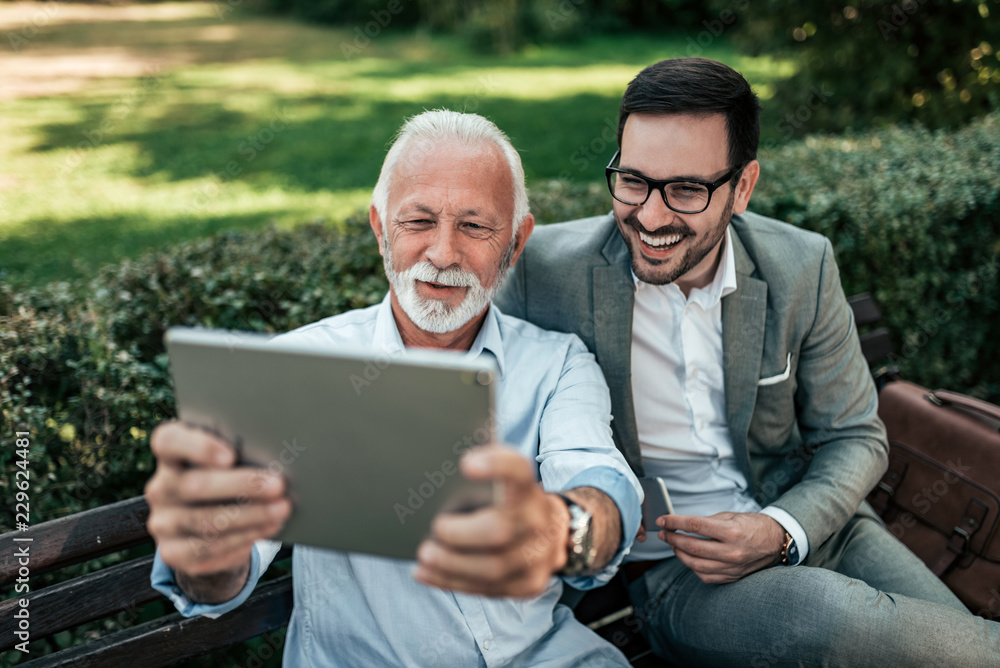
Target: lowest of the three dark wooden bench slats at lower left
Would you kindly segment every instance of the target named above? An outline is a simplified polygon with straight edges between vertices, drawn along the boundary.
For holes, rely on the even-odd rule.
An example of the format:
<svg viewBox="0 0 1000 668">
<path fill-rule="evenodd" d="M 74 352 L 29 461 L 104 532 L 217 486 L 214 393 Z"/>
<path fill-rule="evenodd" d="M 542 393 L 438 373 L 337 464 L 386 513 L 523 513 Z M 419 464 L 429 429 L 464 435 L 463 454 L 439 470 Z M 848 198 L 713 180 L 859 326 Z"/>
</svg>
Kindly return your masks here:
<svg viewBox="0 0 1000 668">
<path fill-rule="evenodd" d="M 281 628 L 292 612 L 292 576 L 257 588 L 240 607 L 218 619 L 174 613 L 98 640 L 43 656 L 32 668 L 160 668 Z M 273 648 L 274 653 L 281 648 Z M 138 662 L 136 657 L 142 657 Z"/>
</svg>

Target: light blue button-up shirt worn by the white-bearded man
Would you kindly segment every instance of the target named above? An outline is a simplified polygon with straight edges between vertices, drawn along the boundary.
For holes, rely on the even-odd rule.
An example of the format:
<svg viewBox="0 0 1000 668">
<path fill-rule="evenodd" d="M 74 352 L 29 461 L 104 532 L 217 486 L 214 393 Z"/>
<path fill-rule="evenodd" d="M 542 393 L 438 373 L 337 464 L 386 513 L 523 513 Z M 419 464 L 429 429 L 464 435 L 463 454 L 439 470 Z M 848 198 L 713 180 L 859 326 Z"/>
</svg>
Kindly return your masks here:
<svg viewBox="0 0 1000 668">
<path fill-rule="evenodd" d="M 371 345 L 398 353 L 403 342 L 388 296 L 282 335 L 314 345 Z M 577 589 L 610 580 L 640 521 L 642 492 L 611 437 L 611 400 L 594 356 L 575 335 L 548 332 L 491 306 L 467 354 L 492 355 L 500 371 L 497 433 L 537 462 L 547 491 L 595 487 L 621 513 L 624 538 L 597 575 L 565 578 Z M 152 585 L 185 616 L 216 617 L 243 603 L 279 544 L 259 541 L 243 590 L 219 605 L 192 602 L 157 552 Z M 296 545 L 295 605 L 284 665 L 326 666 L 627 666 L 624 656 L 557 605 L 563 579 L 531 599 L 494 599 L 416 582 L 414 561 Z"/>
</svg>

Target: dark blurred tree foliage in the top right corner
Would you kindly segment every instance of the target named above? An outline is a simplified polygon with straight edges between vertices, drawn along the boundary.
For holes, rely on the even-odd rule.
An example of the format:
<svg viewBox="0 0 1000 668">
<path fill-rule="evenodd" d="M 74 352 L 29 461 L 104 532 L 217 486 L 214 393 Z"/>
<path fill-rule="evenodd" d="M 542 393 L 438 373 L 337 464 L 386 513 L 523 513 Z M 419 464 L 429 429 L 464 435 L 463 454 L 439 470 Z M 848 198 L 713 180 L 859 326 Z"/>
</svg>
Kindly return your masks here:
<svg viewBox="0 0 1000 668">
<path fill-rule="evenodd" d="M 718 11 L 732 0 L 713 0 Z M 775 99 L 786 137 L 902 120 L 957 127 L 1000 108 L 998 0 L 754 0 L 737 46 L 791 57 Z"/>
</svg>

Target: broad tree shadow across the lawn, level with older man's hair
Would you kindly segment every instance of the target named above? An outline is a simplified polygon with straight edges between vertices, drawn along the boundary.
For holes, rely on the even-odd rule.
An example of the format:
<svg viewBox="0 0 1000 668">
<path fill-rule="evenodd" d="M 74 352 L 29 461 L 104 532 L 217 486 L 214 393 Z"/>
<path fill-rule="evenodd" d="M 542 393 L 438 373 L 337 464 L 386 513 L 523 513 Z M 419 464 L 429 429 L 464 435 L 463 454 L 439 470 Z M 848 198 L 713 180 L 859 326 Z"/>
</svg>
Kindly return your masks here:
<svg viewBox="0 0 1000 668">
<path fill-rule="evenodd" d="M 112 127 L 105 133 L 101 122 L 110 117 L 113 105 L 91 104 L 82 124 L 42 126 L 34 150 L 71 149 L 64 162 L 81 169 L 90 151 L 125 143 L 140 157 L 115 167 L 122 176 L 184 181 L 214 175 L 220 182 L 240 179 L 303 191 L 371 188 L 403 120 L 444 107 L 475 111 L 507 131 L 521 151 L 529 180 L 588 181 L 603 167 L 590 163 L 606 162 L 614 152 L 609 128 L 617 105 L 614 96 L 589 93 L 549 100 L 430 96 L 399 102 L 271 96 L 266 111 L 250 113 L 216 103 L 163 100 L 141 129 L 119 132 Z M 99 143 L 92 146 L 84 132 Z"/>
</svg>

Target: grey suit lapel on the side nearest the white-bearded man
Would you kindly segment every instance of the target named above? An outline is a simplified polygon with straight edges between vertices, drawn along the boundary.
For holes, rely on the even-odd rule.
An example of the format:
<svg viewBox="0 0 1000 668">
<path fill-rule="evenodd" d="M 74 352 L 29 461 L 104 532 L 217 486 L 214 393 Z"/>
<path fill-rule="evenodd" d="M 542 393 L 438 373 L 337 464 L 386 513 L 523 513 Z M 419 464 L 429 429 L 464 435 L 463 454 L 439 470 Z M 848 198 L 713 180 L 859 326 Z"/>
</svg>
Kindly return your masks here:
<svg viewBox="0 0 1000 668">
<path fill-rule="evenodd" d="M 626 461 L 642 475 L 642 456 L 632 401 L 632 307 L 635 300 L 631 260 L 615 226 L 601 251 L 608 262 L 592 269 L 594 347 L 611 389 L 611 423 Z"/>
</svg>

